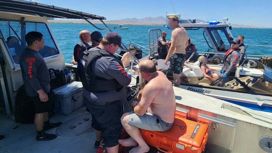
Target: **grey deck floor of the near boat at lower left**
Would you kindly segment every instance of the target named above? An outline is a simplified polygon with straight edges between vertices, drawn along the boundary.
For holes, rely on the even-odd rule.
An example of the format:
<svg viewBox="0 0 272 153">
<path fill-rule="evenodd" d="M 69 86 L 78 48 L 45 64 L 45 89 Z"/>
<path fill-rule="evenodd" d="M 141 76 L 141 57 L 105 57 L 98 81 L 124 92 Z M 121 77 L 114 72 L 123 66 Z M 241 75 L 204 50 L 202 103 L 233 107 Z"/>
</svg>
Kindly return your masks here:
<svg viewBox="0 0 272 153">
<path fill-rule="evenodd" d="M 86 107 L 81 107 L 70 115 L 54 114 L 51 122 L 66 122 L 81 114 L 88 113 Z M 93 128 L 87 129 L 80 135 L 71 137 L 61 137 L 50 141 L 36 141 L 36 131 L 34 124 L 18 124 L 17 129 L 14 119 L 0 113 L 0 135 L 5 138 L 0 140 L 1 153 L 18 153 L 18 152 L 39 152 L 39 153 L 61 153 L 61 152 L 81 152 L 95 153 L 94 148 L 95 132 Z M 50 129 L 47 133 L 56 133 L 56 128 Z"/>
</svg>

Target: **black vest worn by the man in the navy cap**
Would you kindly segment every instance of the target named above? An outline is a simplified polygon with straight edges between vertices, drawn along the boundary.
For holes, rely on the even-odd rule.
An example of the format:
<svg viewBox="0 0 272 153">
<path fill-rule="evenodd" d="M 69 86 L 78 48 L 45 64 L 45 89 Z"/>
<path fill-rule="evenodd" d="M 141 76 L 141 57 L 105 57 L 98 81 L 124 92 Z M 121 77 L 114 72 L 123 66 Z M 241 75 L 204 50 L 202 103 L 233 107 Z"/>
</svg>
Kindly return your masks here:
<svg viewBox="0 0 272 153">
<path fill-rule="evenodd" d="M 97 57 L 102 56 L 111 56 L 115 58 L 112 54 L 108 53 L 106 50 L 102 50 L 96 47 L 96 50 L 85 50 L 83 52 L 83 56 L 81 59 L 81 74 L 82 74 L 82 85 L 83 87 L 92 93 L 106 92 L 108 90 L 116 90 L 120 91 L 122 89 L 122 85 L 116 80 L 108 80 L 103 77 L 97 76 L 93 73 L 91 69 L 91 63 Z M 122 65 L 121 61 L 116 59 L 120 65 Z"/>
</svg>

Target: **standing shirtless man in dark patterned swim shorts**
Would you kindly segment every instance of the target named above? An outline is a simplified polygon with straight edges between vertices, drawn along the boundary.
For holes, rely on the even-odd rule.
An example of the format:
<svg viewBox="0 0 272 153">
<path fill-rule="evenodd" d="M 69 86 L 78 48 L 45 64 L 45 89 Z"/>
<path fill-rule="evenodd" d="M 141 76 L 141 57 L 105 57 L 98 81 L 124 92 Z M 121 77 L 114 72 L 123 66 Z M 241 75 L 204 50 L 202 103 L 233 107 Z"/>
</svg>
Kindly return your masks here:
<svg viewBox="0 0 272 153">
<path fill-rule="evenodd" d="M 180 86 L 180 73 L 182 76 L 185 75 L 182 73 L 183 64 L 186 60 L 186 51 L 185 48 L 188 46 L 188 36 L 187 32 L 183 27 L 179 26 L 179 18 L 176 15 L 168 17 L 169 28 L 172 31 L 171 37 L 171 46 L 169 48 L 164 64 L 167 65 L 167 62 L 170 58 L 170 67 L 168 73 L 173 73 L 174 77 L 174 86 Z"/>
</svg>

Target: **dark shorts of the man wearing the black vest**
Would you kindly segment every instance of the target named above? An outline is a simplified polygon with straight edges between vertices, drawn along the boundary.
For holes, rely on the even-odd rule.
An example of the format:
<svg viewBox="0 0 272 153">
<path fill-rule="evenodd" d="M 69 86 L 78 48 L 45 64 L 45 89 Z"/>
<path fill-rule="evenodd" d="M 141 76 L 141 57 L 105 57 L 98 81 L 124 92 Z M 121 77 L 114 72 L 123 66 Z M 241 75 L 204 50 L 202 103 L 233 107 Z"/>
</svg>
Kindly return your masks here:
<svg viewBox="0 0 272 153">
<path fill-rule="evenodd" d="M 96 105 L 85 98 L 85 104 L 92 114 L 92 125 L 97 131 L 102 131 L 105 146 L 110 148 L 119 144 L 122 124 L 123 109 L 121 101 L 108 105 Z"/>
</svg>

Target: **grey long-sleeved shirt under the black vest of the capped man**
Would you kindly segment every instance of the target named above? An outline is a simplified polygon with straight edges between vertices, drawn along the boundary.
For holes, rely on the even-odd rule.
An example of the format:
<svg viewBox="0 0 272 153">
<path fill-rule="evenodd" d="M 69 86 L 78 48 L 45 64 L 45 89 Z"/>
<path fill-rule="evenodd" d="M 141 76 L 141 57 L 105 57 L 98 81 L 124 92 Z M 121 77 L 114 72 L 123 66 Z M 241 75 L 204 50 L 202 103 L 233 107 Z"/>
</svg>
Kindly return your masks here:
<svg viewBox="0 0 272 153">
<path fill-rule="evenodd" d="M 94 59 L 91 64 L 91 69 L 97 76 L 108 80 L 116 79 L 124 87 L 120 91 L 108 90 L 102 93 L 91 93 L 83 88 L 84 96 L 93 102 L 112 102 L 123 99 L 126 94 L 125 86 L 130 84 L 131 77 L 118 60 L 112 56 L 102 56 Z"/>
</svg>

